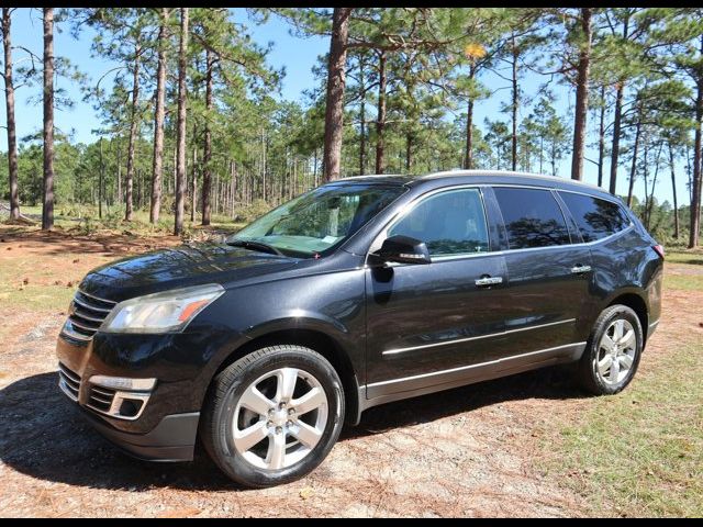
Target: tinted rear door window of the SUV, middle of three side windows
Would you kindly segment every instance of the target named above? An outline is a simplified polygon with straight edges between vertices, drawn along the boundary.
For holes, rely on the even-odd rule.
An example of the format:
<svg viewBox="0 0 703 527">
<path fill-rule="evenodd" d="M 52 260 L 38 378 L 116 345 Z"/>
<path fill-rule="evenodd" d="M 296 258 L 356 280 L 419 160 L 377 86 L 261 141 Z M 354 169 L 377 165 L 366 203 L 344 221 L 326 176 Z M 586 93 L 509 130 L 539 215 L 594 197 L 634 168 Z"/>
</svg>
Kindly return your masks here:
<svg viewBox="0 0 703 527">
<path fill-rule="evenodd" d="M 493 189 L 503 214 L 511 249 L 570 243 L 566 220 L 548 190 Z"/>
</svg>

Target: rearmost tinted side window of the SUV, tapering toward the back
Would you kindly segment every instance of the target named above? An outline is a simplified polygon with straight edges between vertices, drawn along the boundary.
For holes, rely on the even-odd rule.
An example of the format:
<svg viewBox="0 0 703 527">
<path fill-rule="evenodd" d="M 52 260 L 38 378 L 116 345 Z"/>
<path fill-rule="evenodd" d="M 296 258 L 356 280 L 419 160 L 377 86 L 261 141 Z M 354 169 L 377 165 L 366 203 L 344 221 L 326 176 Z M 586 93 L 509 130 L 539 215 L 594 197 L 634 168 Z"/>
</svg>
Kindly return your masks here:
<svg viewBox="0 0 703 527">
<path fill-rule="evenodd" d="M 585 243 L 606 238 L 629 226 L 625 211 L 615 203 L 573 192 L 559 192 L 559 195 L 579 225 Z"/>
</svg>

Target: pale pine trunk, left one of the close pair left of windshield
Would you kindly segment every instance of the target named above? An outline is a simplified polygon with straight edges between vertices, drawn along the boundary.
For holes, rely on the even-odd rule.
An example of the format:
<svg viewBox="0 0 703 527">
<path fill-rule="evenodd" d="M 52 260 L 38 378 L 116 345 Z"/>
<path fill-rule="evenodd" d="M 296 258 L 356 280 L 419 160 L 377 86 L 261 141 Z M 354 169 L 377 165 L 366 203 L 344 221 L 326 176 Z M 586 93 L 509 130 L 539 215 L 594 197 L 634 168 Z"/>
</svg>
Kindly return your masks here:
<svg viewBox="0 0 703 527">
<path fill-rule="evenodd" d="M 154 109 L 154 165 L 152 170 L 152 208 L 149 222 L 157 223 L 161 211 L 161 172 L 164 169 L 164 120 L 166 115 L 166 43 L 168 40 L 168 9 L 161 8 L 158 29 L 158 67 L 156 71 L 156 108 Z"/>
</svg>

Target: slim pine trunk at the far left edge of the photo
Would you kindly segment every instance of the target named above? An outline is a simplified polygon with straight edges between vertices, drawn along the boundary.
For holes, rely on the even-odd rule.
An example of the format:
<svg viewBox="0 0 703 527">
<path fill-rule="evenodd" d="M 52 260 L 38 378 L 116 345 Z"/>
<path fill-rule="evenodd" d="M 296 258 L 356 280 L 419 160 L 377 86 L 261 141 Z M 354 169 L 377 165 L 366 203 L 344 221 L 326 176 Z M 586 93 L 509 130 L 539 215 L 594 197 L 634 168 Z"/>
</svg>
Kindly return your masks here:
<svg viewBox="0 0 703 527">
<path fill-rule="evenodd" d="M 14 83 L 12 82 L 11 8 L 2 8 L 2 44 L 4 47 L 4 94 L 8 116 L 8 165 L 10 183 L 10 217 L 20 218 L 18 187 L 18 132 L 14 120 Z"/>
</svg>

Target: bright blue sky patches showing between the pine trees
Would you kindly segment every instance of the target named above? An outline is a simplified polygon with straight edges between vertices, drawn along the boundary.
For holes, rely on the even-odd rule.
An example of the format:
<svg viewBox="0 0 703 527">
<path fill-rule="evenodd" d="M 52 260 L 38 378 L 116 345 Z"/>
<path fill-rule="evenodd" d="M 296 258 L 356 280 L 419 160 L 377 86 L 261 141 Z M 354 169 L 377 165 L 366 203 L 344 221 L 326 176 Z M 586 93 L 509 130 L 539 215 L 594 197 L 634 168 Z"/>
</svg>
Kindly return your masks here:
<svg viewBox="0 0 703 527">
<path fill-rule="evenodd" d="M 235 16 L 239 20 L 246 19 L 247 14 L 243 9 L 235 10 Z M 327 52 L 328 41 L 326 37 L 298 37 L 291 36 L 289 26 L 276 16 L 271 16 L 267 23 L 261 25 L 249 24 L 252 35 L 254 40 L 263 45 L 268 42 L 274 43 L 274 48 L 269 55 L 269 64 L 276 68 L 284 67 L 286 76 L 283 78 L 281 88 L 281 98 L 287 100 L 302 100 L 303 90 L 312 89 L 314 87 L 314 78 L 312 75 L 312 67 L 317 60 L 317 56 Z M 102 75 L 114 68 L 116 65 L 110 63 L 103 58 L 92 57 L 90 51 L 90 43 L 92 41 L 92 32 L 85 31 L 80 35 L 80 40 L 75 40 L 68 30 L 68 24 L 63 24 L 58 27 L 59 31 L 55 35 L 54 48 L 56 55 L 65 56 L 70 61 L 78 66 L 78 68 L 86 74 L 92 81 L 97 81 Z M 41 12 L 37 9 L 18 9 L 13 15 L 12 22 L 12 40 L 14 47 L 22 46 L 31 49 L 36 55 L 42 53 L 42 21 Z M 26 60 L 26 53 L 21 49 L 14 51 L 15 65 L 20 65 L 21 61 Z M 23 63 L 25 64 L 25 63 Z M 506 85 L 503 79 L 496 76 L 487 76 L 483 81 L 491 88 L 501 88 Z M 522 81 L 521 88 L 527 98 L 533 97 L 544 80 L 535 74 L 526 74 Z M 96 111 L 90 103 L 82 102 L 82 94 L 78 86 L 75 83 L 59 78 L 57 86 L 64 88 L 70 99 L 75 101 L 72 109 L 58 109 L 56 111 L 56 126 L 63 133 L 72 133 L 74 141 L 89 143 L 97 137 L 92 133 L 93 130 L 100 126 L 100 122 L 97 119 Z M 565 114 L 569 111 L 573 104 L 573 93 L 566 90 L 566 88 L 553 83 L 553 89 L 559 98 L 557 103 L 557 110 L 559 113 Z M 42 127 L 42 106 L 41 103 L 31 103 L 30 98 L 36 99 L 41 92 L 41 87 L 24 87 L 16 91 L 16 121 L 18 121 L 18 137 L 22 137 L 34 134 L 41 131 Z M 476 123 L 483 124 L 486 117 L 491 120 L 502 119 L 507 120 L 506 115 L 500 113 L 501 103 L 510 97 L 510 90 L 504 89 L 498 91 L 491 99 L 481 101 L 476 106 Z M 521 116 L 527 116 L 531 112 L 529 108 L 523 109 Z M 589 115 L 589 119 L 593 119 Z M 569 123 L 570 124 L 570 123 Z M 593 124 L 593 123 L 591 123 Z M 5 125 L 5 105 L 4 101 L 0 104 L 0 126 Z M 590 126 L 590 128 L 592 128 Z M 4 128 L 0 132 L 0 148 L 7 149 L 7 138 Z M 589 142 L 593 138 L 589 137 Z M 587 157 L 591 159 L 596 158 L 595 152 L 587 152 Z M 568 156 L 562 160 L 559 166 L 559 173 L 567 175 L 570 171 L 571 158 Z M 610 167 L 606 165 L 606 178 Z M 679 167 L 682 170 L 682 167 Z M 660 201 L 669 200 L 671 202 L 671 181 L 668 176 L 668 170 L 660 175 L 659 182 L 657 183 L 657 198 Z M 624 194 L 627 192 L 627 169 L 621 167 L 618 172 L 618 186 L 617 192 Z M 589 183 L 595 184 L 596 182 L 596 168 L 595 165 L 585 161 L 584 162 L 584 180 Z M 680 177 L 679 181 L 683 178 Z M 682 182 L 679 184 L 679 200 L 684 203 L 688 192 Z M 644 195 L 643 182 L 636 181 L 635 193 L 637 195 Z"/>
</svg>

